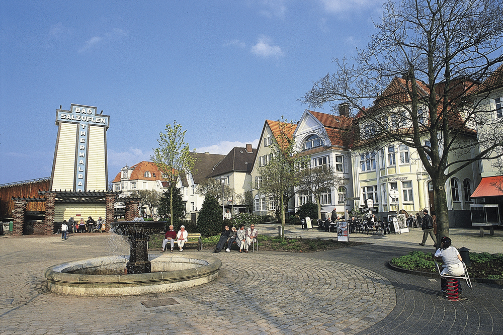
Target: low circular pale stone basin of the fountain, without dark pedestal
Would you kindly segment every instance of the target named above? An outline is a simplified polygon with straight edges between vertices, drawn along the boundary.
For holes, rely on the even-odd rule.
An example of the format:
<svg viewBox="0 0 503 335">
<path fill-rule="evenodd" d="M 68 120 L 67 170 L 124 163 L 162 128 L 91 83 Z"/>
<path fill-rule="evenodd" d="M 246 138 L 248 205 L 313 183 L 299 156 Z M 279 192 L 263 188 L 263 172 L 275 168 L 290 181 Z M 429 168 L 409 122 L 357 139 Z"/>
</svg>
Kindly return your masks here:
<svg viewBox="0 0 503 335">
<path fill-rule="evenodd" d="M 124 275 L 127 256 L 72 261 L 45 271 L 49 291 L 65 295 L 120 296 L 163 293 L 202 285 L 218 277 L 222 262 L 211 256 L 152 258 L 151 273 Z"/>
</svg>

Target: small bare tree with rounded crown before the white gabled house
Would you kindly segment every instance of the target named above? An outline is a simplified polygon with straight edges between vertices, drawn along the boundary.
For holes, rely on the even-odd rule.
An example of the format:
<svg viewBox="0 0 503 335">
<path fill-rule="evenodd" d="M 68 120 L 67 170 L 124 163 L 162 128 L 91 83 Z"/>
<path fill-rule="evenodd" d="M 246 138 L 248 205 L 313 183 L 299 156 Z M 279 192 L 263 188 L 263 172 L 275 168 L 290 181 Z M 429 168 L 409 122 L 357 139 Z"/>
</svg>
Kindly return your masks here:
<svg viewBox="0 0 503 335">
<path fill-rule="evenodd" d="M 346 184 L 346 180 L 338 176 L 333 167 L 327 164 L 302 169 L 298 174 L 298 190 L 309 191 L 314 196 L 318 206 L 318 217 L 321 218 L 321 193 L 331 188 L 337 190 Z"/>
</svg>

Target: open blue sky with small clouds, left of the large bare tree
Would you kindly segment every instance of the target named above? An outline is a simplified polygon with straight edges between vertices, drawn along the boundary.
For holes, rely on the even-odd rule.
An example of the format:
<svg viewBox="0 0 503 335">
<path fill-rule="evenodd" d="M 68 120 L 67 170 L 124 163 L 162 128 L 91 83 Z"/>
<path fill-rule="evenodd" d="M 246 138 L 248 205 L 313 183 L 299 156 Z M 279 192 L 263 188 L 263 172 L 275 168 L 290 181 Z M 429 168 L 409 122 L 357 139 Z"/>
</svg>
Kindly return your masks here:
<svg viewBox="0 0 503 335">
<path fill-rule="evenodd" d="M 110 115 L 109 179 L 174 120 L 191 150 L 256 147 L 264 120 L 298 119 L 332 59 L 367 45 L 382 3 L 2 1 L 0 184 L 50 176 L 71 103 Z"/>
</svg>

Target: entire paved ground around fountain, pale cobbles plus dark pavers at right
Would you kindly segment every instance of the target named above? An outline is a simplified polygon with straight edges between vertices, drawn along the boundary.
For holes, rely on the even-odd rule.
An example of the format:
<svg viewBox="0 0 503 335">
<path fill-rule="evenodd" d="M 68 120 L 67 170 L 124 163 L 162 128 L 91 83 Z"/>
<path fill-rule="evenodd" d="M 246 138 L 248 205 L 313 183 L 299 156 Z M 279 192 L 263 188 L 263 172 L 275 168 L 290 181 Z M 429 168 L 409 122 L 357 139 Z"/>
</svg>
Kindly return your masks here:
<svg viewBox="0 0 503 335">
<path fill-rule="evenodd" d="M 437 294 L 438 280 L 386 268 L 392 257 L 412 250 L 401 246 L 365 244 L 313 254 L 222 252 L 216 254 L 223 264 L 217 280 L 171 293 L 72 297 L 47 291 L 43 275 L 51 265 L 127 254 L 128 245 L 114 236 L 0 238 L 0 333 L 503 333 L 501 286 L 465 285 L 467 300 L 446 301 Z M 141 305 L 169 297 L 180 304 Z"/>
</svg>

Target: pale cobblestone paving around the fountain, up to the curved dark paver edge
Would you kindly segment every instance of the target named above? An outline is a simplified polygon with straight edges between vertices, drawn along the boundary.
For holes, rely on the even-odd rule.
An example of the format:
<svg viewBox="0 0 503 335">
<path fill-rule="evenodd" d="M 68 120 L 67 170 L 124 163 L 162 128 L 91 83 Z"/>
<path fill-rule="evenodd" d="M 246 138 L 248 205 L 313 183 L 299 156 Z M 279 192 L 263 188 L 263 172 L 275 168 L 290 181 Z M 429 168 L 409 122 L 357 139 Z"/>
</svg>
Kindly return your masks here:
<svg viewBox="0 0 503 335">
<path fill-rule="evenodd" d="M 108 235 L 108 234 L 107 234 Z M 217 254 L 218 279 L 185 291 L 137 297 L 72 297 L 47 291 L 44 271 L 72 259 L 127 251 L 100 235 L 0 239 L 2 334 L 356 333 L 395 305 L 391 283 L 373 271 L 325 259 L 285 254 Z M 108 245 L 114 245 L 114 248 Z M 190 250 L 190 249 L 187 249 Z M 197 252 L 184 253 L 197 256 Z M 143 300 L 180 304 L 146 308 Z M 9 302 L 9 301 L 7 301 Z"/>
</svg>

